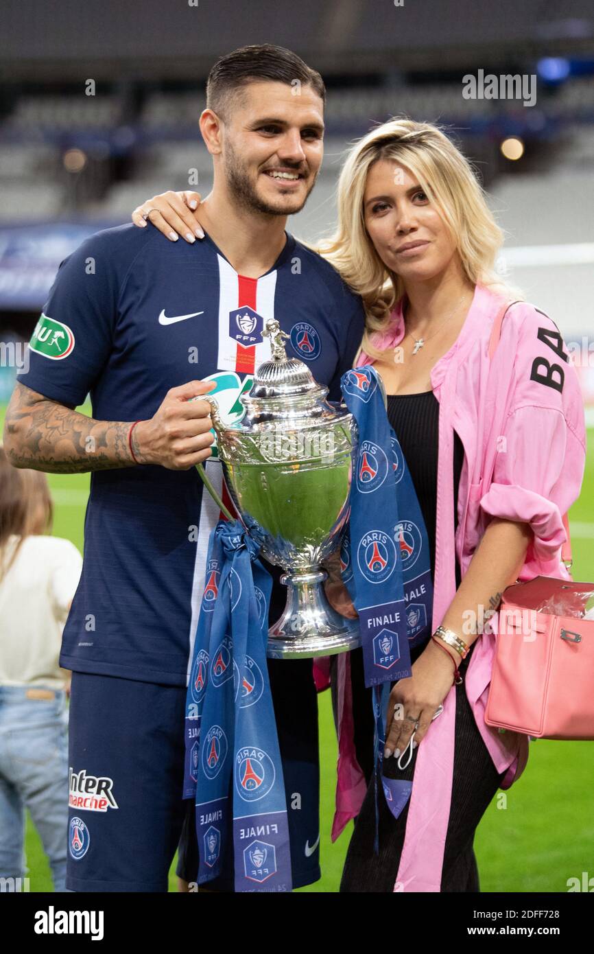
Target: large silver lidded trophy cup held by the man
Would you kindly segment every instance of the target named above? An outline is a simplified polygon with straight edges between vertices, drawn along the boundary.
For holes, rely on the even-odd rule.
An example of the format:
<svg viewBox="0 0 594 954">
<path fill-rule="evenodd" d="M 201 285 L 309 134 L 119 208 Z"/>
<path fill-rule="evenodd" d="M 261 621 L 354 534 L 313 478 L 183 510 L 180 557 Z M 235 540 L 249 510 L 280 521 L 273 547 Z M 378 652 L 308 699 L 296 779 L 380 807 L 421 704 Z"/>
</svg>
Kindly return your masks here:
<svg viewBox="0 0 594 954">
<path fill-rule="evenodd" d="M 321 562 L 337 549 L 349 514 L 357 425 L 328 388 L 288 358 L 278 321 L 267 321 L 272 358 L 242 395 L 242 420 L 211 418 L 218 457 L 241 522 L 269 563 L 284 570 L 285 610 L 269 630 L 273 658 L 332 655 L 360 645 L 358 620 L 329 604 Z"/>
</svg>

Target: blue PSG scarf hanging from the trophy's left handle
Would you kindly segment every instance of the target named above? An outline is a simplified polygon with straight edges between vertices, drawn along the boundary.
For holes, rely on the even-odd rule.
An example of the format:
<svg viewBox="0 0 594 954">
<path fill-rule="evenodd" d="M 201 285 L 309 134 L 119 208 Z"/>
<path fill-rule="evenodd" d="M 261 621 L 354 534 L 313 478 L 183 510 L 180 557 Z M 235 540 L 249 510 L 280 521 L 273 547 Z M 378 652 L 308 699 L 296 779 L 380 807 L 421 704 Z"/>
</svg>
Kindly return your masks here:
<svg viewBox="0 0 594 954">
<path fill-rule="evenodd" d="M 242 525 L 211 534 L 188 685 L 184 797 L 195 795 L 198 883 L 223 871 L 235 888 L 291 891 L 289 829 L 266 663 L 272 579 Z"/>
</svg>

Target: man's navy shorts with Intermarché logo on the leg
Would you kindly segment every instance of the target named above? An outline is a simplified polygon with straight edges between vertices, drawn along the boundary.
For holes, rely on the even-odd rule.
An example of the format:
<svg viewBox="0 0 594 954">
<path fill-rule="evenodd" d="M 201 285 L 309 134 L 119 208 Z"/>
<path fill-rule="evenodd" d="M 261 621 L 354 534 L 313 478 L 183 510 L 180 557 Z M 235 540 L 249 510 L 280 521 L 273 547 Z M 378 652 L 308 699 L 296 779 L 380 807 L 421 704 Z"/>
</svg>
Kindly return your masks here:
<svg viewBox="0 0 594 954">
<path fill-rule="evenodd" d="M 298 887 L 320 877 L 316 687 L 311 659 L 270 660 L 269 671 Z M 167 891 L 178 843 L 178 874 L 196 880 L 185 704 L 184 687 L 72 673 L 67 888 Z M 226 871 L 220 888 L 232 882 Z"/>
</svg>

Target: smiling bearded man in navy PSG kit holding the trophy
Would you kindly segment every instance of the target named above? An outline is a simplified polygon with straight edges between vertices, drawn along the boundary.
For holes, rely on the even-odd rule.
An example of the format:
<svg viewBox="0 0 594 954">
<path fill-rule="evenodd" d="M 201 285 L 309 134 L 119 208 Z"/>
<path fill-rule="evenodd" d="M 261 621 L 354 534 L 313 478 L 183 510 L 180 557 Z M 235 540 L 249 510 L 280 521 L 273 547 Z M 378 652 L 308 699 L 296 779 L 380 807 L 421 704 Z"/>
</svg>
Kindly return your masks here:
<svg viewBox="0 0 594 954">
<path fill-rule="evenodd" d="M 319 170 L 323 103 L 321 77 L 292 52 L 220 59 L 200 116 L 215 172 L 205 238 L 174 243 L 130 225 L 84 242 L 60 266 L 10 400 L 15 467 L 92 472 L 60 656 L 72 670 L 73 891 L 166 891 L 182 825 L 178 874 L 195 880 L 182 727 L 219 517 L 196 464 L 207 461 L 225 499 L 199 398 L 214 394 L 224 418 L 239 419 L 238 398 L 271 353 L 260 332 L 276 318 L 288 352 L 338 399 L 363 331 L 358 297 L 285 232 Z M 88 393 L 92 418 L 74 410 Z M 276 579 L 271 623 L 284 596 Z M 297 887 L 319 878 L 316 690 L 311 660 L 269 671 Z M 233 889 L 227 876 L 222 890 Z"/>
</svg>

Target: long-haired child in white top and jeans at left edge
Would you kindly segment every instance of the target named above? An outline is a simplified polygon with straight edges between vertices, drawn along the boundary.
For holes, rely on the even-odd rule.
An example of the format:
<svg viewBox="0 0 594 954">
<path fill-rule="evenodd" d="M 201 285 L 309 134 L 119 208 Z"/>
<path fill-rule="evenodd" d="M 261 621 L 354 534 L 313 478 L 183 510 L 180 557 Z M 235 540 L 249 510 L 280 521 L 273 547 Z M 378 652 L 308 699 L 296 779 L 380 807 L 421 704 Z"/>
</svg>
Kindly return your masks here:
<svg viewBox="0 0 594 954">
<path fill-rule="evenodd" d="M 58 654 L 82 558 L 46 534 L 51 520 L 46 475 L 11 467 L 0 445 L 0 877 L 26 873 L 28 808 L 65 891 L 70 673 Z"/>
</svg>

